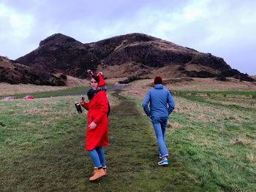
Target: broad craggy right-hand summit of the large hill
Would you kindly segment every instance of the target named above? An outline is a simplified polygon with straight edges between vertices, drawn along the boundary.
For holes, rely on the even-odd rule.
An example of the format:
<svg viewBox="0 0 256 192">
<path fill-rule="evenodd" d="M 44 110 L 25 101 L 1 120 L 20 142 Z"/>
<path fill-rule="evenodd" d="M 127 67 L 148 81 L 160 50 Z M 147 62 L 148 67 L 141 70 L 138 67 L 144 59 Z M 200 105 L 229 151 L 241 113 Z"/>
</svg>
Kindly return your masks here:
<svg viewBox="0 0 256 192">
<path fill-rule="evenodd" d="M 220 71 L 231 69 L 223 58 L 218 58 L 211 53 L 199 53 L 189 47 L 182 47 L 146 34 L 127 34 L 91 45 L 100 49 L 101 52 L 106 52 L 102 49 L 109 50 L 104 58 L 106 65 L 120 65 L 127 61 L 135 61 L 151 67 L 201 64 Z"/>
</svg>

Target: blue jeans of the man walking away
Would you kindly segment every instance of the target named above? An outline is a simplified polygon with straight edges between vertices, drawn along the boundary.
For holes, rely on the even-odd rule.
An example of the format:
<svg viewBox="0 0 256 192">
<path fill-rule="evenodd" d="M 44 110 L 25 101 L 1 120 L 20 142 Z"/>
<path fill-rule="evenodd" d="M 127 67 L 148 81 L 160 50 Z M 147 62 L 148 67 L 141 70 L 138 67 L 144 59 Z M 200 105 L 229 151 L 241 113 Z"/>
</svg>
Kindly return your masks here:
<svg viewBox="0 0 256 192">
<path fill-rule="evenodd" d="M 161 118 L 152 117 L 151 118 L 152 124 L 154 126 L 154 132 L 157 136 L 159 153 L 162 156 L 162 158 L 167 157 L 169 155 L 167 151 L 167 147 L 165 146 L 165 129 L 167 126 L 167 120 L 168 120 L 168 117 L 161 117 Z"/>
</svg>

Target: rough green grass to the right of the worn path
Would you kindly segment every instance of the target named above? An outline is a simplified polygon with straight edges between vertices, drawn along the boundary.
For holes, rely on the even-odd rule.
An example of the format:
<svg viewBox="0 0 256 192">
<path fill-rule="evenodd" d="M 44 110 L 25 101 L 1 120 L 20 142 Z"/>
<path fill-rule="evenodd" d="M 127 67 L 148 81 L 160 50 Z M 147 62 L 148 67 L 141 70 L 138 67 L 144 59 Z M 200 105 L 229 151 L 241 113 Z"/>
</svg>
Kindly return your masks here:
<svg viewBox="0 0 256 192">
<path fill-rule="evenodd" d="M 255 191 L 255 106 L 236 108 L 195 96 L 174 100 L 177 107 L 169 119 L 167 145 L 198 185 L 207 191 Z"/>
</svg>

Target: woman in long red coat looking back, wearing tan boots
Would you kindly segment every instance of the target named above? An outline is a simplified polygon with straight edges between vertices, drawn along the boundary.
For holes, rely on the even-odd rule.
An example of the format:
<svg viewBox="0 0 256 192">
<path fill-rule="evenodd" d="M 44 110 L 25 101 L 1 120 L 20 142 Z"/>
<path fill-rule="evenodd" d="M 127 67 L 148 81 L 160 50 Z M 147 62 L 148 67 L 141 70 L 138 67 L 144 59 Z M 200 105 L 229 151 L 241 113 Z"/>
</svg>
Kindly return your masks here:
<svg viewBox="0 0 256 192">
<path fill-rule="evenodd" d="M 98 74 L 93 74 L 91 70 L 88 72 L 91 74 L 91 89 L 87 93 L 89 102 L 80 100 L 80 104 L 88 110 L 86 150 L 94 161 L 93 176 L 89 178 L 92 181 L 107 174 L 102 146 L 108 146 L 108 99 L 102 72 Z"/>
</svg>

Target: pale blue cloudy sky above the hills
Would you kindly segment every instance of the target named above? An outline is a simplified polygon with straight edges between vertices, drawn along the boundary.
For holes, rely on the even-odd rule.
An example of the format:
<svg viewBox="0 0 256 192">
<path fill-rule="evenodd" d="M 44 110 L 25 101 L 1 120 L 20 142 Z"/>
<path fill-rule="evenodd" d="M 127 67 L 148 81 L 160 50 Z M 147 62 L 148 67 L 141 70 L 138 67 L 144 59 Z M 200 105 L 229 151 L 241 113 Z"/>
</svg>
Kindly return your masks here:
<svg viewBox="0 0 256 192">
<path fill-rule="evenodd" d="M 0 55 L 16 59 L 61 33 L 80 42 L 143 33 L 256 74 L 255 0 L 1 0 Z"/>
</svg>

